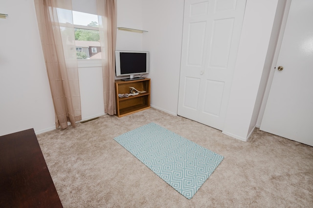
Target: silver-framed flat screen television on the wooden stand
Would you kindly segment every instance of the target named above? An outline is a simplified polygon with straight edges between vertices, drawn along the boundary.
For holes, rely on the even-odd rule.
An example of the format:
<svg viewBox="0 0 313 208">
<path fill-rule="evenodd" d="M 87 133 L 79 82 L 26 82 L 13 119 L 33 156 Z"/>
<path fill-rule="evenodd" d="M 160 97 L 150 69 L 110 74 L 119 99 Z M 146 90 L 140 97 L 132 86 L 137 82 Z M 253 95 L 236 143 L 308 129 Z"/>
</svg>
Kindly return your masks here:
<svg viewBox="0 0 313 208">
<path fill-rule="evenodd" d="M 140 80 L 142 75 L 149 73 L 149 51 L 115 51 L 116 77 L 130 76 L 124 81 Z"/>
</svg>

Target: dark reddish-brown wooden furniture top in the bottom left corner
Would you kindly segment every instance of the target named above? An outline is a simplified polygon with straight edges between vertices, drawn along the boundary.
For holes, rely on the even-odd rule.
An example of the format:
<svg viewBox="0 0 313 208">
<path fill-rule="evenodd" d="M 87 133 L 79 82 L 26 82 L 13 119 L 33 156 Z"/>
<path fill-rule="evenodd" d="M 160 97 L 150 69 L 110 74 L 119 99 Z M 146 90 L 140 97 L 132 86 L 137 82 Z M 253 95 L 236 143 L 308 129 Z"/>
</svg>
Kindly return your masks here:
<svg viewBox="0 0 313 208">
<path fill-rule="evenodd" d="M 0 207 L 63 207 L 34 129 L 0 136 Z"/>
</svg>

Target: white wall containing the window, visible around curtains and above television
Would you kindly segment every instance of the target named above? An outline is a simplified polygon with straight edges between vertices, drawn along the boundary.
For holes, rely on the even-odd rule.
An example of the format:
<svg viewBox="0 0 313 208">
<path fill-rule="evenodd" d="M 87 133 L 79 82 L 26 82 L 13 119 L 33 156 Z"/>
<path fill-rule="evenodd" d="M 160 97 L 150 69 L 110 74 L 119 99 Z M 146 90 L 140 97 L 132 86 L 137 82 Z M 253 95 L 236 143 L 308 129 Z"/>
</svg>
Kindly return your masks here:
<svg viewBox="0 0 313 208">
<path fill-rule="evenodd" d="M 34 1 L 0 0 L 0 5 L 0 13 L 9 15 L 0 19 L 0 135 L 28 128 L 37 134 L 55 129 Z M 117 0 L 117 6 L 118 26 L 143 29 L 142 0 Z M 117 49 L 142 50 L 142 36 L 117 31 Z M 104 114 L 102 71 L 95 65 L 79 65 L 82 118 L 87 120 Z"/>
</svg>

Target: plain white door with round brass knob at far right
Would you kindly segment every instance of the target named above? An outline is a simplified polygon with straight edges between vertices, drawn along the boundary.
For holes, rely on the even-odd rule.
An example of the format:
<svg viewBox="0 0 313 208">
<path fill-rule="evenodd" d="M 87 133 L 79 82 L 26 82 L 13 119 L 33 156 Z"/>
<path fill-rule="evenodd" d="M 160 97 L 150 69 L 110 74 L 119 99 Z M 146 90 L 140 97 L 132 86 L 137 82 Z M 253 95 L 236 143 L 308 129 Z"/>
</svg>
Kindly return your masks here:
<svg viewBox="0 0 313 208">
<path fill-rule="evenodd" d="M 313 146 L 313 1 L 292 0 L 260 129 Z M 278 66 L 283 70 L 278 71 Z"/>
</svg>

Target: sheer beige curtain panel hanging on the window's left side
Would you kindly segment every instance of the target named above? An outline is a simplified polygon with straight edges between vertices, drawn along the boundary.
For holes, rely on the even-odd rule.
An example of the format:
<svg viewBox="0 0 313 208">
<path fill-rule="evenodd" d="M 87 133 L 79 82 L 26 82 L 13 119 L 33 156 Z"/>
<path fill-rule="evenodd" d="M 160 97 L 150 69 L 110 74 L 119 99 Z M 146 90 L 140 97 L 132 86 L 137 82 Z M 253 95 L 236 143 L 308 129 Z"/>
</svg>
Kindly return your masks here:
<svg viewBox="0 0 313 208">
<path fill-rule="evenodd" d="M 58 9 L 72 10 L 71 0 L 35 0 L 38 27 L 55 110 L 56 127 L 81 120 L 81 102 L 72 22 L 60 27 Z"/>
</svg>

